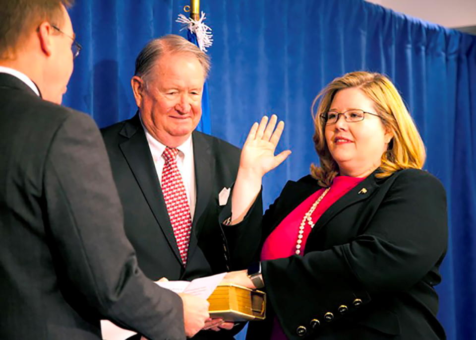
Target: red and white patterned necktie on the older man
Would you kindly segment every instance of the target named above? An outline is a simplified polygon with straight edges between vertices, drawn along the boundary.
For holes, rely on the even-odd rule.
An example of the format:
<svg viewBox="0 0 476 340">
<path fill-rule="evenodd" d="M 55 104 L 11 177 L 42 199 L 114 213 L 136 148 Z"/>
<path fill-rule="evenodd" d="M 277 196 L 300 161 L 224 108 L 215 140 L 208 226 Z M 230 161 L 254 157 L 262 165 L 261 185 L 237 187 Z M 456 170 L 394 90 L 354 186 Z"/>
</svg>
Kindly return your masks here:
<svg viewBox="0 0 476 340">
<path fill-rule="evenodd" d="M 170 223 L 174 229 L 175 239 L 179 247 L 180 257 L 185 265 L 187 263 L 188 241 L 190 240 L 190 229 L 192 218 L 188 205 L 185 186 L 182 176 L 177 167 L 178 149 L 166 147 L 162 157 L 165 159 L 162 170 L 162 192 L 164 194 L 165 205 L 169 212 Z"/>
</svg>

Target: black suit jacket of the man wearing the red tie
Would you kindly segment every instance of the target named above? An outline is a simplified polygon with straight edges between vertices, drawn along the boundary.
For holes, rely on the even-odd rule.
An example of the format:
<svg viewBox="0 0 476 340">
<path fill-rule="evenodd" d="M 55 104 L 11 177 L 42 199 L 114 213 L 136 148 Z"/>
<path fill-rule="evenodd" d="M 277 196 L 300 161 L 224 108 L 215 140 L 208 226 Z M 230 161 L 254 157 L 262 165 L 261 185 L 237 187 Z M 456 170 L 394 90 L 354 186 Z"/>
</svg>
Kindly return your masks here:
<svg viewBox="0 0 476 340">
<path fill-rule="evenodd" d="M 124 227 L 137 253 L 139 267 L 153 280 L 191 280 L 244 268 L 253 254 L 241 254 L 236 235 L 246 234 L 246 223 L 221 224 L 218 194 L 235 182 L 240 150 L 224 140 L 192 133 L 196 178 L 196 206 L 186 267 L 183 266 L 160 182 L 138 114 L 101 130 L 114 179 L 124 208 Z M 230 200 L 231 201 L 231 198 Z M 260 217 L 261 196 L 248 213 Z M 230 206 L 230 204 L 228 204 Z M 206 332 L 207 339 L 226 339 Z M 198 339 L 198 338 L 197 338 Z"/>
</svg>

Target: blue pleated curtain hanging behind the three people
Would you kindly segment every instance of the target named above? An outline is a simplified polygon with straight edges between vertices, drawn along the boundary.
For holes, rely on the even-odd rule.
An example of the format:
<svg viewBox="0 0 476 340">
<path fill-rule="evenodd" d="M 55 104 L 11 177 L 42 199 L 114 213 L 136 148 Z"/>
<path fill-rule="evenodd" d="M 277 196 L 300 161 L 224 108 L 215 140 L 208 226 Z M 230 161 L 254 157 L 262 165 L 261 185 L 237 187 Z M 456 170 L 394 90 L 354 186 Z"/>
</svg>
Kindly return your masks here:
<svg viewBox="0 0 476 340">
<path fill-rule="evenodd" d="M 334 77 L 366 69 L 400 89 L 428 151 L 426 169 L 447 190 L 449 248 L 439 319 L 448 339 L 476 334 L 476 37 L 362 0 L 202 0 L 214 33 L 211 133 L 242 145 L 253 121 L 286 122 L 279 150 L 293 154 L 264 180 L 264 201 L 317 162 L 309 107 Z M 104 127 L 135 110 L 129 80 L 151 38 L 179 32 L 187 0 L 78 0 L 84 49 L 64 104 Z"/>
</svg>

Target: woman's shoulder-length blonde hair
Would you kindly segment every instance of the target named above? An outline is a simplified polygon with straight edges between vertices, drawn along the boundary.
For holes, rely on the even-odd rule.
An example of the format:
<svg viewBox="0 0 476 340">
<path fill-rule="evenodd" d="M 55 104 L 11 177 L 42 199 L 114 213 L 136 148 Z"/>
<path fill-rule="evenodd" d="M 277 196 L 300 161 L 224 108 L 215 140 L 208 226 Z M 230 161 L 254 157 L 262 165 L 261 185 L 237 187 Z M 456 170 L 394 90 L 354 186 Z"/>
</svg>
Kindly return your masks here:
<svg viewBox="0 0 476 340">
<path fill-rule="evenodd" d="M 338 91 L 351 87 L 358 87 L 375 103 L 375 110 L 384 127 L 393 135 L 387 151 L 382 154 L 380 172 L 376 177 L 387 177 L 401 169 L 421 169 L 426 157 L 425 146 L 398 90 L 383 74 L 356 71 L 335 78 L 312 102 L 315 129 L 313 140 L 320 167 L 312 164 L 311 175 L 318 180 L 319 185 L 330 186 L 339 173 L 339 166 L 327 147 L 324 135 L 326 122 L 321 115 L 329 111 Z M 315 109 L 317 103 L 319 105 Z"/>
</svg>

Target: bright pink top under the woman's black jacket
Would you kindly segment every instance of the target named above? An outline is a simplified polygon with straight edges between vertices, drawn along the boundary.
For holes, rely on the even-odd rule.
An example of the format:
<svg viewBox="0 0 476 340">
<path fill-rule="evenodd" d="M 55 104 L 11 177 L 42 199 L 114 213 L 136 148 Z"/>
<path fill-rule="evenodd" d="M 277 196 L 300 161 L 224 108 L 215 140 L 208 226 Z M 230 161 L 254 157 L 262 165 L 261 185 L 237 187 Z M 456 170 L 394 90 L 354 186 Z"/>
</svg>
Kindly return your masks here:
<svg viewBox="0 0 476 340">
<path fill-rule="evenodd" d="M 326 196 L 324 196 L 322 201 L 317 205 L 316 209 L 312 213 L 312 221 L 317 221 L 332 204 L 347 194 L 352 188 L 357 186 L 357 184 L 363 180 L 364 178 L 337 176 L 332 182 L 329 192 L 326 194 Z M 325 189 L 319 189 L 307 199 L 305 199 L 281 221 L 281 223 L 271 232 L 271 234 L 269 234 L 263 244 L 263 249 L 261 250 L 262 261 L 286 258 L 296 255 L 296 241 L 302 217 L 309 210 L 312 204 L 314 204 L 318 197 L 324 192 L 324 190 Z M 304 233 L 302 234 L 301 256 L 304 253 L 306 240 L 310 232 L 311 228 L 308 224 L 306 224 Z M 278 322 L 278 319 L 275 318 L 273 331 L 271 333 L 271 340 L 286 339 L 287 338 Z"/>
</svg>

